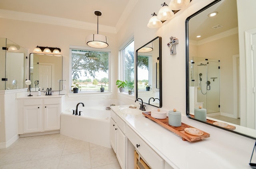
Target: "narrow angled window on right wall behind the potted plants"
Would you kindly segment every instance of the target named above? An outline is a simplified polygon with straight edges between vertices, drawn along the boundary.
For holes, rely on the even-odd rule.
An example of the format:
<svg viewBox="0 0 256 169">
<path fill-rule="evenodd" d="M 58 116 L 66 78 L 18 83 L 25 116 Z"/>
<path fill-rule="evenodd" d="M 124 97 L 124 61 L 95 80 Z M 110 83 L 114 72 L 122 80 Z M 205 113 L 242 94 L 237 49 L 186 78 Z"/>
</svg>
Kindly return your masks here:
<svg viewBox="0 0 256 169">
<path fill-rule="evenodd" d="M 134 92 L 134 40 L 121 50 L 122 81 L 127 81 L 125 91 Z"/>
</svg>

